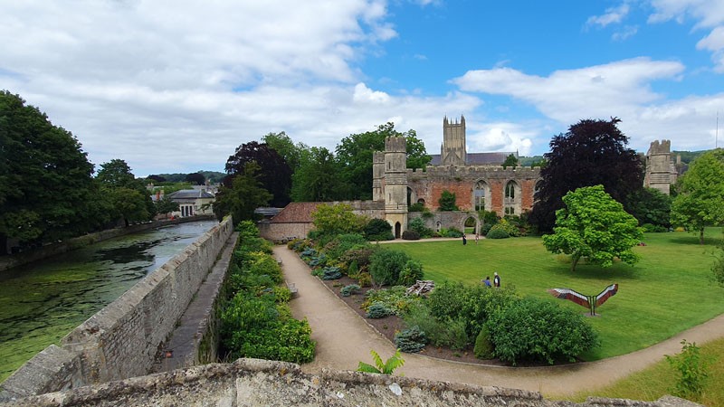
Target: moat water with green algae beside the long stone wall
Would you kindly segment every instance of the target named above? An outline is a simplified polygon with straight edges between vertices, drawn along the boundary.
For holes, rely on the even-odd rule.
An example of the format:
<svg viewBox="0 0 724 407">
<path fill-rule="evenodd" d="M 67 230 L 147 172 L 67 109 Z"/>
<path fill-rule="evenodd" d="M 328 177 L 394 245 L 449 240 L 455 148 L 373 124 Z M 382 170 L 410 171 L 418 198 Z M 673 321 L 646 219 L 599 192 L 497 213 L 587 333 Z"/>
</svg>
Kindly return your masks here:
<svg viewBox="0 0 724 407">
<path fill-rule="evenodd" d="M 0 382 L 217 223 L 134 233 L 0 272 Z"/>
</svg>

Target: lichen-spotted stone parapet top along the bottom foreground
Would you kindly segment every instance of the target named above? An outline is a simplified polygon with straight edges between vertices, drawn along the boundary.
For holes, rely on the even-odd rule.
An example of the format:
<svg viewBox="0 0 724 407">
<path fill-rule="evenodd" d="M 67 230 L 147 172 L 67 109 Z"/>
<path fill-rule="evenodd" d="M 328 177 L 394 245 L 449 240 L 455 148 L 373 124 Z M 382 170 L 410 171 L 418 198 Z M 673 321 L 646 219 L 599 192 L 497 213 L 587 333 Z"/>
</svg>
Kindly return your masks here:
<svg viewBox="0 0 724 407">
<path fill-rule="evenodd" d="M 150 406 L 696 406 L 674 397 L 657 402 L 589 398 L 552 402 L 540 393 L 500 387 L 434 382 L 423 379 L 323 369 L 305 374 L 298 364 L 239 359 L 233 364 L 205 364 L 165 374 L 48 393 L 2 407 Z"/>
</svg>

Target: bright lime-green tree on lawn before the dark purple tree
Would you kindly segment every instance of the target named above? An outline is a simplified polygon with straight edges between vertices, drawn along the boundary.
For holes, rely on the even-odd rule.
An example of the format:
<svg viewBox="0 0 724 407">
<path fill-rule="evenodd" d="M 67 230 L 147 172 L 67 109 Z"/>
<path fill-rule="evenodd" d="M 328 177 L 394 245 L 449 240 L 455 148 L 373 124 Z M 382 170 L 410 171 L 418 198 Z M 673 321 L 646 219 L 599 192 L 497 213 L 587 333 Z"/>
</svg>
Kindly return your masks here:
<svg viewBox="0 0 724 407">
<path fill-rule="evenodd" d="M 603 185 L 578 188 L 566 194 L 563 203 L 566 207 L 556 213 L 554 233 L 544 235 L 543 244 L 552 253 L 570 255 L 571 271 L 582 258 L 603 267 L 613 265 L 614 257 L 628 264 L 638 261 L 632 248 L 643 232 Z"/>
</svg>

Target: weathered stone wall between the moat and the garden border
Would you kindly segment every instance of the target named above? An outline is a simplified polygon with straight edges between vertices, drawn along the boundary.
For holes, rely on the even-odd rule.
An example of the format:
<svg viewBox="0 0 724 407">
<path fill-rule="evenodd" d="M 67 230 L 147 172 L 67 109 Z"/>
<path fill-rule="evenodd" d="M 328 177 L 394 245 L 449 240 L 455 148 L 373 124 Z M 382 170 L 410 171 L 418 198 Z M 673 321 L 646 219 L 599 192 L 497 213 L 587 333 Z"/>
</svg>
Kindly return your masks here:
<svg viewBox="0 0 724 407">
<path fill-rule="evenodd" d="M 148 374 L 233 232 L 231 218 L 5 380 L 0 400 Z"/>
</svg>

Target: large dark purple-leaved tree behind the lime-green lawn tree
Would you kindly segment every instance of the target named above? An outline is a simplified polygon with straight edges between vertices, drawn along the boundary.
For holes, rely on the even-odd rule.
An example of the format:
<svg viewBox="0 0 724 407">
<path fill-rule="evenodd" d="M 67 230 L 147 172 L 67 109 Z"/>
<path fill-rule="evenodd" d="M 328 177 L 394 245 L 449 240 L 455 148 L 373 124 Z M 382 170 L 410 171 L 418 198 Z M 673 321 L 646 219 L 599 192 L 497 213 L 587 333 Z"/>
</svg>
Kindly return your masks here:
<svg viewBox="0 0 724 407">
<path fill-rule="evenodd" d="M 529 221 L 549 232 L 562 198 L 569 191 L 604 185 L 605 191 L 626 204 L 628 196 L 643 188 L 643 164 L 628 137 L 616 127 L 621 120 L 584 119 L 550 141 L 548 164 L 540 170 L 542 182 Z"/>
</svg>

